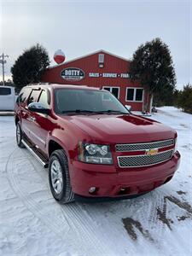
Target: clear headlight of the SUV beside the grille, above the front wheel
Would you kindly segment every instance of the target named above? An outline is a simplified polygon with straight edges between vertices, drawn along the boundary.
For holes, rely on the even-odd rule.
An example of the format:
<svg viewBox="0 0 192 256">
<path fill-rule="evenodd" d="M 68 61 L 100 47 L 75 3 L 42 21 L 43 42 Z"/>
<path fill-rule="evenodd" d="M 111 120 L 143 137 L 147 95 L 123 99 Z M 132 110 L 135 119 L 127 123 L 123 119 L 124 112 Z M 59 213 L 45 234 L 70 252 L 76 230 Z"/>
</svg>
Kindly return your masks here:
<svg viewBox="0 0 192 256">
<path fill-rule="evenodd" d="M 85 163 L 112 165 L 112 155 L 108 145 L 79 143 L 79 160 Z"/>
</svg>

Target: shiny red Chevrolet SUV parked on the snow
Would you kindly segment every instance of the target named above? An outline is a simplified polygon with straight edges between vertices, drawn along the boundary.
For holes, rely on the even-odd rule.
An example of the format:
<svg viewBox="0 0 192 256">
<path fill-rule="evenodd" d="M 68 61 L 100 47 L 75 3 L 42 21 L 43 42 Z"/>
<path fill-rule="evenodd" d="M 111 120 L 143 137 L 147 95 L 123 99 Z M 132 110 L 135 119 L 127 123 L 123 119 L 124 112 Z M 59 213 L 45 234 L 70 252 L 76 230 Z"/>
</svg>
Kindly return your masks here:
<svg viewBox="0 0 192 256">
<path fill-rule="evenodd" d="M 56 201 L 142 195 L 170 181 L 179 165 L 177 133 L 131 114 L 110 92 L 32 84 L 15 104 L 16 140 L 44 167 Z"/>
</svg>

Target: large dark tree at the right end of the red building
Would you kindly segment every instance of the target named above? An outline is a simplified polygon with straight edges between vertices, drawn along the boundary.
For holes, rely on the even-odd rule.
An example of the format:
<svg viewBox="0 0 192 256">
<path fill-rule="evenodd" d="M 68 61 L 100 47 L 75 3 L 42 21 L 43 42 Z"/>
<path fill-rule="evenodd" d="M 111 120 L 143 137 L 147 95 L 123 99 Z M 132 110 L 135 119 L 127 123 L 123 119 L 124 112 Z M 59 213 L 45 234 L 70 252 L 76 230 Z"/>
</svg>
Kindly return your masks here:
<svg viewBox="0 0 192 256">
<path fill-rule="evenodd" d="M 156 102 L 168 102 L 176 84 L 172 56 L 168 46 L 160 38 L 142 44 L 133 55 L 130 70 L 131 79 L 139 79 L 149 98 Z M 149 100 L 147 102 L 149 104 Z"/>
</svg>

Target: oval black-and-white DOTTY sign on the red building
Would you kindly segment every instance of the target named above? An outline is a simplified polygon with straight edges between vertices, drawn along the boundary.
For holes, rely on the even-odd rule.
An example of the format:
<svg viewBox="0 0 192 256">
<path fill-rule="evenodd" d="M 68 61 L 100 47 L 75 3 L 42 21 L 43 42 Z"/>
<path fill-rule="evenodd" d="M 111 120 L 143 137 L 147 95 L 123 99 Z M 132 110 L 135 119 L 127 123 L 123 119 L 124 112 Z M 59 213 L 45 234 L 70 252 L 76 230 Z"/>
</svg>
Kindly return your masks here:
<svg viewBox="0 0 192 256">
<path fill-rule="evenodd" d="M 61 71 L 61 77 L 67 81 L 84 79 L 84 71 L 77 67 L 67 67 Z"/>
</svg>

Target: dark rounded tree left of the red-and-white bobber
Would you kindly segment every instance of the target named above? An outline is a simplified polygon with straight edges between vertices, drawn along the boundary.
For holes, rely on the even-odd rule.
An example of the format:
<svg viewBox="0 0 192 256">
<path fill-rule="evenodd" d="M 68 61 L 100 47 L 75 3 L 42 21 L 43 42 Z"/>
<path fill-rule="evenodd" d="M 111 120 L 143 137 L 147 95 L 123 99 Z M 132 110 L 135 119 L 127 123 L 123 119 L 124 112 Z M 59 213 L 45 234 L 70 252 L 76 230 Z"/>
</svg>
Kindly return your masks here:
<svg viewBox="0 0 192 256">
<path fill-rule="evenodd" d="M 40 44 L 26 49 L 11 67 L 13 81 L 16 87 L 22 88 L 26 84 L 38 83 L 41 74 L 49 66 L 49 55 Z"/>
</svg>

